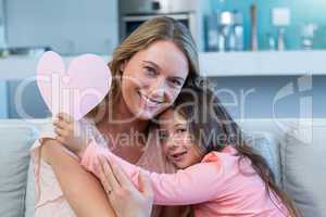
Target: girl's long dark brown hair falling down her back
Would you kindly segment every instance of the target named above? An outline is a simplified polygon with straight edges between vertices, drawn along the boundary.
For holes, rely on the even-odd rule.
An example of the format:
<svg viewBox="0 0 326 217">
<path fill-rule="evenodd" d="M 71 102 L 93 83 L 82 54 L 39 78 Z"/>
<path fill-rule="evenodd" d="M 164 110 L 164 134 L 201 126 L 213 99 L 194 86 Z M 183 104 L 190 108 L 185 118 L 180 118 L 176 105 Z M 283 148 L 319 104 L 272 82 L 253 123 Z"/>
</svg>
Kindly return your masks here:
<svg viewBox="0 0 326 217">
<path fill-rule="evenodd" d="M 273 201 L 272 193 L 285 204 L 290 216 L 300 216 L 292 200 L 276 184 L 274 174 L 266 161 L 246 144 L 239 126 L 222 105 L 213 89 L 209 88 L 206 81 L 195 88 L 184 89 L 173 108 L 187 120 L 189 132 L 201 154 L 222 151 L 227 144 L 233 144 L 237 155 L 240 156 L 239 166 L 244 159 L 251 161 L 254 170 L 264 181 L 271 200 Z M 273 201 L 273 203 L 280 209 L 277 202 Z"/>
</svg>

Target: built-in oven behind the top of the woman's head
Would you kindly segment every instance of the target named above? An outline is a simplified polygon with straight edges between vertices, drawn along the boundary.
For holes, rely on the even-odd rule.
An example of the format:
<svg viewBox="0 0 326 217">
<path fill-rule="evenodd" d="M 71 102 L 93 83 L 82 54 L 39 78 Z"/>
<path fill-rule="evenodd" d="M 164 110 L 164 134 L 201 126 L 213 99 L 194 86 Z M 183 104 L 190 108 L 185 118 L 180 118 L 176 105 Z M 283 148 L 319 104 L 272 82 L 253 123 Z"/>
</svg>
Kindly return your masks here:
<svg viewBox="0 0 326 217">
<path fill-rule="evenodd" d="M 199 0 L 120 0 L 120 41 L 143 22 L 158 16 L 168 16 L 188 27 L 201 49 L 203 16 L 200 5 Z"/>
</svg>

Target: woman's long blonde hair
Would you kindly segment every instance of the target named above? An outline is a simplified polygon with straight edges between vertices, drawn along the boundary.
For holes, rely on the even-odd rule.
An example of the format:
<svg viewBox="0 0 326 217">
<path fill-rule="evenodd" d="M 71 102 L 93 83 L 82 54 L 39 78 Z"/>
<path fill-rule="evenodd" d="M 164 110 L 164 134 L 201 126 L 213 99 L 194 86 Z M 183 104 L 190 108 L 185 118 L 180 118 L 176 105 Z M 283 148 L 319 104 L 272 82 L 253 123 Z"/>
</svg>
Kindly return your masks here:
<svg viewBox="0 0 326 217">
<path fill-rule="evenodd" d="M 161 16 L 149 20 L 141 24 L 118 46 L 108 64 L 112 73 L 112 86 L 110 92 L 90 111 L 87 116 L 100 120 L 104 113 L 106 103 L 114 103 L 121 95 L 121 76 L 123 64 L 130 60 L 137 52 L 147 49 L 150 44 L 159 40 L 170 40 L 174 42 L 186 55 L 189 65 L 189 74 L 185 86 L 196 86 L 199 78 L 199 61 L 195 40 L 185 25 L 174 18 Z M 110 101 L 109 101 L 110 99 Z"/>
</svg>

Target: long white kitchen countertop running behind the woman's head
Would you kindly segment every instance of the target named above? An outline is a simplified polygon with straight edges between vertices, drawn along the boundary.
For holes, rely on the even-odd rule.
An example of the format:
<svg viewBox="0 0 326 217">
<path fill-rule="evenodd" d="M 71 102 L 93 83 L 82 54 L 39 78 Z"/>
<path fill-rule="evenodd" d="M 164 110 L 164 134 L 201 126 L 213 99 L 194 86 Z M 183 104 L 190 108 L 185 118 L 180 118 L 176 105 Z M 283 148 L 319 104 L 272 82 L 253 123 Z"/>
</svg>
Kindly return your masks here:
<svg viewBox="0 0 326 217">
<path fill-rule="evenodd" d="M 67 63 L 74 56 L 63 56 Z M 111 56 L 103 55 L 109 61 Z M 36 56 L 0 59 L 0 80 L 24 79 L 36 75 Z M 203 76 L 326 75 L 326 50 L 199 53 Z"/>
</svg>

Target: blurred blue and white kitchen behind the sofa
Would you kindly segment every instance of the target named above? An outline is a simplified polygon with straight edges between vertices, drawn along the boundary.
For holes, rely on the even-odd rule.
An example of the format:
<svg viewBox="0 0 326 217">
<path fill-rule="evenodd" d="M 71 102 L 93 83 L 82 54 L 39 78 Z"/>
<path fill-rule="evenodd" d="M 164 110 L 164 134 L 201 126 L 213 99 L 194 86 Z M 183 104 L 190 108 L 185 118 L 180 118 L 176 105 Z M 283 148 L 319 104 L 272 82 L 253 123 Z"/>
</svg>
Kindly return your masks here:
<svg viewBox="0 0 326 217">
<path fill-rule="evenodd" d="M 191 30 L 234 117 L 326 117 L 325 11 L 325 0 L 0 0 L 0 118 L 49 115 L 30 81 L 42 52 L 110 60 L 160 15 Z"/>
</svg>

